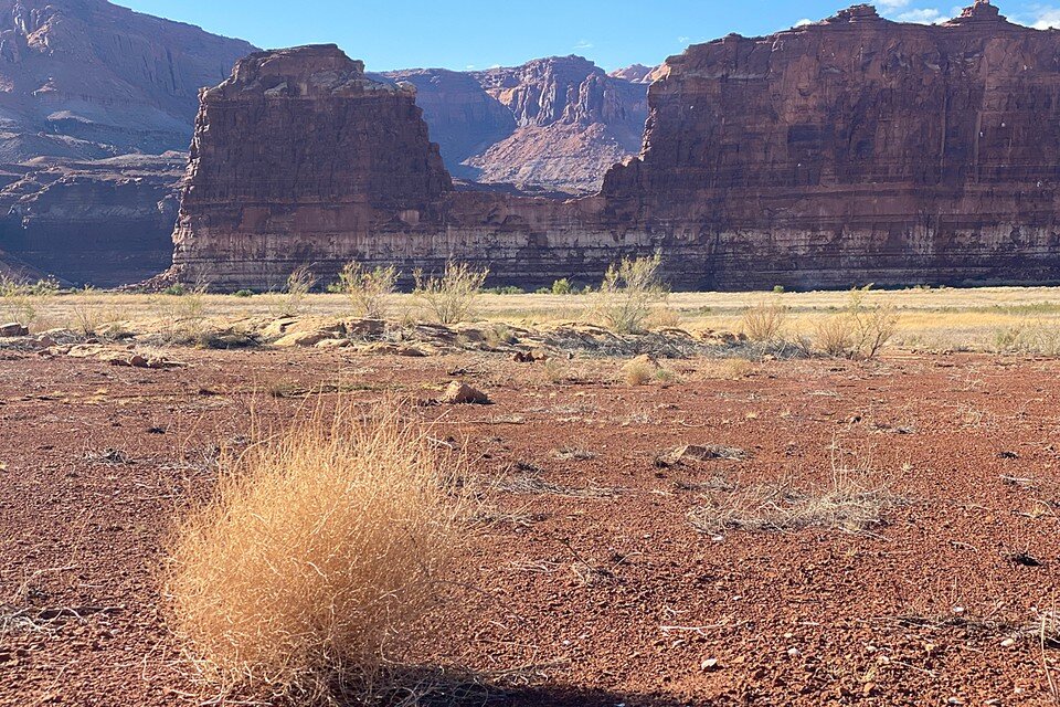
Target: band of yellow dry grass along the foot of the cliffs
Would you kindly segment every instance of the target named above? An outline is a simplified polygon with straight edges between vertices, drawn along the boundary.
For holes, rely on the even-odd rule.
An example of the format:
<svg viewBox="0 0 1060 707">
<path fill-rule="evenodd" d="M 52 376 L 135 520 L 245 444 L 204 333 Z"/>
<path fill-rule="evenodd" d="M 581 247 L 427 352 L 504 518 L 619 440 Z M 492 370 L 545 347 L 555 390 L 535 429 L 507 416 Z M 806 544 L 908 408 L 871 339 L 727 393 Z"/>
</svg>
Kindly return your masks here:
<svg viewBox="0 0 1060 707">
<path fill-rule="evenodd" d="M 50 296 L 35 302 L 33 330 L 84 328 L 84 321 L 110 323 L 147 319 L 171 320 L 176 313 L 194 309 L 194 317 L 233 321 L 268 317 L 285 295 L 234 297 L 203 295 L 194 306 L 171 295 L 77 293 Z M 768 294 L 786 313 L 785 334 L 813 338 L 822 321 L 839 313 L 850 298 L 848 292 Z M 739 331 L 745 315 L 762 302 L 763 293 L 676 293 L 667 300 L 667 324 L 679 319 L 689 329 Z M 1017 338 L 1016 348 L 1035 352 L 1036 342 L 1060 340 L 1060 288 L 984 287 L 974 289 L 903 289 L 865 293 L 865 305 L 890 305 L 898 316 L 892 345 L 905 348 L 995 351 L 1006 338 Z M 584 295 L 481 295 L 476 303 L 480 319 L 519 326 L 592 319 L 593 298 Z M 320 317 L 352 316 L 343 295 L 312 294 L 304 312 Z M 417 303 L 410 295 L 392 295 L 386 308 L 395 319 L 415 319 Z M 187 317 L 186 317 L 187 318 Z M 656 324 L 656 323 L 653 323 Z M 1006 337 L 1006 331 L 1027 331 Z M 999 344 L 1001 346 L 999 346 Z"/>
</svg>

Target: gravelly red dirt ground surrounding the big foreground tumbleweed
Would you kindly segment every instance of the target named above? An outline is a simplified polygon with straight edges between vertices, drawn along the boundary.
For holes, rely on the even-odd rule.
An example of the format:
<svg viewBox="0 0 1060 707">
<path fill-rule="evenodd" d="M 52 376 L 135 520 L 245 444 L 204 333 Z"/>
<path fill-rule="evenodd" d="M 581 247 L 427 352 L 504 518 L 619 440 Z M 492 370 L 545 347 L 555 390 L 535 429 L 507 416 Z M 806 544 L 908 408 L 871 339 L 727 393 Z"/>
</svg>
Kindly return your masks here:
<svg viewBox="0 0 1060 707">
<path fill-rule="evenodd" d="M 209 492 L 212 450 L 247 434 L 252 408 L 279 421 L 307 404 L 269 391 L 430 398 L 456 368 L 496 404 L 418 414 L 487 477 L 521 462 L 568 492 L 499 496 L 524 523 L 476 534 L 421 648 L 516 685 L 487 704 L 1056 704 L 1060 650 L 1038 629 L 1060 577 L 1060 362 L 894 356 L 718 380 L 716 362 L 677 361 L 681 380 L 630 388 L 603 382 L 610 361 L 579 362 L 596 382 L 555 384 L 501 357 L 174 356 L 189 366 L 0 360 L 2 705 L 200 704 L 155 572 L 176 509 Z M 689 443 L 749 457 L 655 464 Z M 689 524 L 696 483 L 810 488 L 833 447 L 901 497 L 884 525 L 714 538 Z"/>
</svg>

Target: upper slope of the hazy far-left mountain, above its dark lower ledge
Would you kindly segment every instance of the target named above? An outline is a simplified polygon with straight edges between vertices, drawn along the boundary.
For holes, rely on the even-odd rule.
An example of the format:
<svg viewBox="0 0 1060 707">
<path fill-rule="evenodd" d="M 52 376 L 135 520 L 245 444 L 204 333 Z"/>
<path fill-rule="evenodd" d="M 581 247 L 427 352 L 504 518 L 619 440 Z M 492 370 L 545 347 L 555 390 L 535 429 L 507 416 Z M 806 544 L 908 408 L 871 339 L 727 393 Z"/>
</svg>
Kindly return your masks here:
<svg viewBox="0 0 1060 707">
<path fill-rule="evenodd" d="M 105 0 L 0 0 L 0 161 L 186 150 L 246 42 Z"/>
</svg>

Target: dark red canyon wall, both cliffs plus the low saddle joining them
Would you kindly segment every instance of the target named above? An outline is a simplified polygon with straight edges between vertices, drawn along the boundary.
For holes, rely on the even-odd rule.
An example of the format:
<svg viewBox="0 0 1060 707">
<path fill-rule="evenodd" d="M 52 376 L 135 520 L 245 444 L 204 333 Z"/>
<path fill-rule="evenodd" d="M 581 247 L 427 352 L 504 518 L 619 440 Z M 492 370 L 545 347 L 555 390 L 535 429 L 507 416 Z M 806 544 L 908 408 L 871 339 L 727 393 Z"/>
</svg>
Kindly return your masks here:
<svg viewBox="0 0 1060 707">
<path fill-rule="evenodd" d="M 452 256 L 536 286 L 658 250 L 688 288 L 1057 282 L 1058 57 L 1060 33 L 983 1 L 940 27 L 856 6 L 692 46 L 656 73 L 640 157 L 561 201 L 453 190 L 414 94 L 335 48 L 262 54 L 203 96 L 171 276 L 267 288 L 301 263 L 327 282 Z M 583 105 L 505 81 L 528 126 Z"/>
</svg>

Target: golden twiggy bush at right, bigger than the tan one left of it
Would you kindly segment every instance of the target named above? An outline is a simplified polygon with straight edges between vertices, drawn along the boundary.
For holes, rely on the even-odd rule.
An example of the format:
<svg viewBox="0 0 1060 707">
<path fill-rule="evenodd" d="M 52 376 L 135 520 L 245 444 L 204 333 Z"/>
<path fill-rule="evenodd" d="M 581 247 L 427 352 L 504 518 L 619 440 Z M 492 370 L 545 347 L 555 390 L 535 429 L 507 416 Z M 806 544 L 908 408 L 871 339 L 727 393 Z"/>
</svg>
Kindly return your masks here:
<svg viewBox="0 0 1060 707">
<path fill-rule="evenodd" d="M 814 329 L 817 348 L 836 358 L 876 358 L 898 331 L 898 314 L 889 304 L 869 306 L 869 287 L 852 289 L 844 310 L 819 321 Z"/>
</svg>

